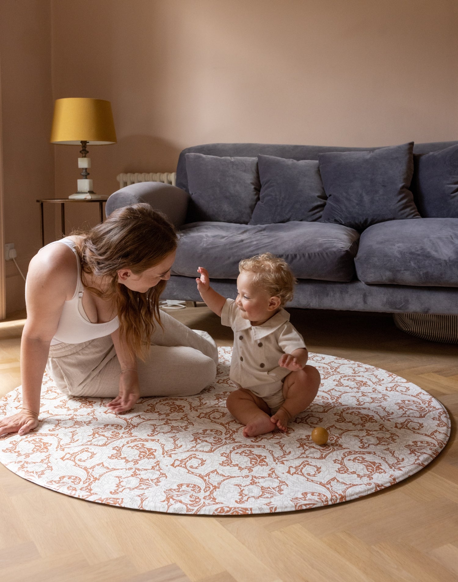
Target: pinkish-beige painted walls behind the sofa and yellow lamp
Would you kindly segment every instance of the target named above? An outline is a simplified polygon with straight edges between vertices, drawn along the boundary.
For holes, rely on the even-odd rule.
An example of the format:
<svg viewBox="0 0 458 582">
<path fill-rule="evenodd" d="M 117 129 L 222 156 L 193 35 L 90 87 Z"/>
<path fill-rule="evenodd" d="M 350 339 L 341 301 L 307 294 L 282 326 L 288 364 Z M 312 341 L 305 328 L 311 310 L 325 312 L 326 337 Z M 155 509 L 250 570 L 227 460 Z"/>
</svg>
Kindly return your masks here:
<svg viewBox="0 0 458 582">
<path fill-rule="evenodd" d="M 100 194 L 117 189 L 119 172 L 173 171 L 180 150 L 199 143 L 364 147 L 458 139 L 454 0 L 1 6 L 3 14 L 15 12 L 11 22 L 2 18 L 0 45 L 2 69 L 9 62 L 2 70 L 6 238 L 18 241 L 23 261 L 38 244 L 34 199 L 52 186 L 49 147 L 55 197 L 72 193 L 79 177 L 79 148 L 47 143 L 56 98 L 112 102 L 118 144 L 89 148 Z M 67 228 L 93 224 L 97 205 L 74 205 L 67 217 Z M 9 289 L 11 308 L 17 299 Z"/>
</svg>

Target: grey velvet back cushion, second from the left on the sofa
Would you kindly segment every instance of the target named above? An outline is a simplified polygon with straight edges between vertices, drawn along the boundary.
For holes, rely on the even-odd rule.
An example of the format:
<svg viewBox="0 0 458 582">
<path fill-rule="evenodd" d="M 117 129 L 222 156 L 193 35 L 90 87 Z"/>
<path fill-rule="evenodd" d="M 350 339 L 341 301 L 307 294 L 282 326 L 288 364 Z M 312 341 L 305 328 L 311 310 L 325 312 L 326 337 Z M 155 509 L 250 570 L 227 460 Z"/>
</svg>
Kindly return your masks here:
<svg viewBox="0 0 458 582">
<path fill-rule="evenodd" d="M 258 155 L 258 171 L 260 198 L 248 224 L 312 222 L 321 218 L 326 194 L 317 161 Z"/>
</svg>

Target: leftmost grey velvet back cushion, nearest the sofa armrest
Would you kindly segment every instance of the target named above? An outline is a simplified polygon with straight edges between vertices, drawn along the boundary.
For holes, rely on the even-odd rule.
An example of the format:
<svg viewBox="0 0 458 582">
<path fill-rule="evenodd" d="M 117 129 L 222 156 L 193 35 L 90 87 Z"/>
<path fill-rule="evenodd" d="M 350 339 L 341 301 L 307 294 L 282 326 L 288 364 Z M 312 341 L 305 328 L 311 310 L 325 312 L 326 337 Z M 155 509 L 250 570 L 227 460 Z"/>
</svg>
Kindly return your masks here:
<svg viewBox="0 0 458 582">
<path fill-rule="evenodd" d="M 247 224 L 259 199 L 257 158 L 186 154 L 187 221 Z"/>
</svg>

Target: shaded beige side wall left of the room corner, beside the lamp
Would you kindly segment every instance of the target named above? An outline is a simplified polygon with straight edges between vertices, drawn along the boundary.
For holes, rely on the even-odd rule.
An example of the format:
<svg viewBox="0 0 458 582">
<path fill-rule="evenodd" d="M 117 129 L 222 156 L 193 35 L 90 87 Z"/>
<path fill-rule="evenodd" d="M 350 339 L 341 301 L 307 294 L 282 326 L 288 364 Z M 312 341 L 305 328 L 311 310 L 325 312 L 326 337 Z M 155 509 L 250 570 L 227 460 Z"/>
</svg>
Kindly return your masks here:
<svg viewBox="0 0 458 582">
<path fill-rule="evenodd" d="M 15 243 L 24 272 L 40 249 L 37 198 L 54 197 L 51 10 L 44 0 L 0 2 L 0 62 L 5 242 Z M 54 213 L 53 213 L 54 214 Z M 54 221 L 48 219 L 48 232 Z M 24 281 L 5 263 L 6 313 L 22 309 Z"/>
</svg>

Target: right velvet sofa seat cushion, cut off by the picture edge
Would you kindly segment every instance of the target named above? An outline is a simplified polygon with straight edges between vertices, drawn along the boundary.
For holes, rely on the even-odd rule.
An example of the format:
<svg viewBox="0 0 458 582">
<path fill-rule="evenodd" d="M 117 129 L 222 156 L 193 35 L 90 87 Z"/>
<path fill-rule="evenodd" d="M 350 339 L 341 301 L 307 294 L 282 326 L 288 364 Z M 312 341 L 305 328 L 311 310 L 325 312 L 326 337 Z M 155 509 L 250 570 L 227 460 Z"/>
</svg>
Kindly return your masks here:
<svg viewBox="0 0 458 582">
<path fill-rule="evenodd" d="M 458 287 L 458 218 L 372 225 L 361 235 L 354 262 L 367 284 Z"/>
</svg>

